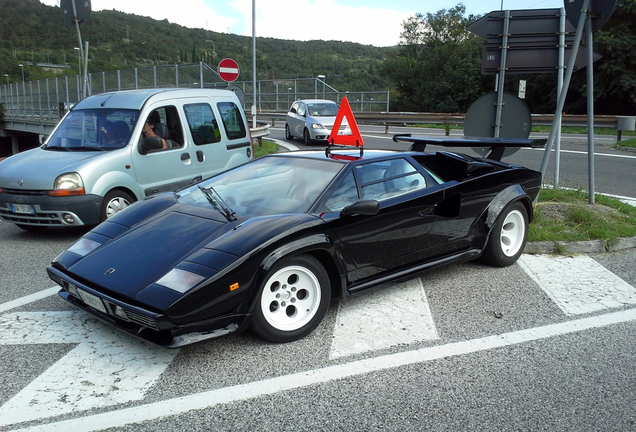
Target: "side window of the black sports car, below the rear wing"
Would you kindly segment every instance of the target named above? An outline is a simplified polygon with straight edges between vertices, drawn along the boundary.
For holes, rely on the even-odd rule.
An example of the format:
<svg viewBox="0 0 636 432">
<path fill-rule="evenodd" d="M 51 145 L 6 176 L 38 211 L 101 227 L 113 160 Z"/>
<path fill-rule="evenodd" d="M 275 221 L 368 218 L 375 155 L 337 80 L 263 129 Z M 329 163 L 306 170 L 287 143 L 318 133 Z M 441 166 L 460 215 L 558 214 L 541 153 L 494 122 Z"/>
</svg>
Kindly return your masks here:
<svg viewBox="0 0 636 432">
<path fill-rule="evenodd" d="M 391 159 L 356 167 L 362 198 L 382 201 L 426 187 L 426 179 L 406 159 Z"/>
</svg>

